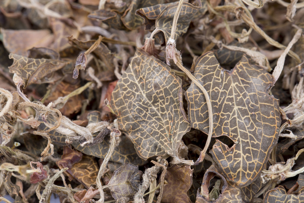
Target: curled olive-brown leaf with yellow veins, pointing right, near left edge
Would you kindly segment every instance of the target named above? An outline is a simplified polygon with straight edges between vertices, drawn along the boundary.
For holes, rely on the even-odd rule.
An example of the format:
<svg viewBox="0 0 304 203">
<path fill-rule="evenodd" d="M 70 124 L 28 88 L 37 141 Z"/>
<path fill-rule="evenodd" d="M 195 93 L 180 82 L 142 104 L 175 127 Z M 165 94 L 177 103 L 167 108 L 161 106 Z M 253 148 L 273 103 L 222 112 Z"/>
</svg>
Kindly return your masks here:
<svg viewBox="0 0 304 203">
<path fill-rule="evenodd" d="M 61 60 L 34 59 L 17 54 L 9 54 L 9 58 L 14 59 L 13 64 L 9 67 L 9 72 L 15 73 L 22 79 L 24 89 L 28 85 L 38 82 L 38 80 L 51 72 L 57 71 L 67 65 L 65 61 Z"/>
</svg>

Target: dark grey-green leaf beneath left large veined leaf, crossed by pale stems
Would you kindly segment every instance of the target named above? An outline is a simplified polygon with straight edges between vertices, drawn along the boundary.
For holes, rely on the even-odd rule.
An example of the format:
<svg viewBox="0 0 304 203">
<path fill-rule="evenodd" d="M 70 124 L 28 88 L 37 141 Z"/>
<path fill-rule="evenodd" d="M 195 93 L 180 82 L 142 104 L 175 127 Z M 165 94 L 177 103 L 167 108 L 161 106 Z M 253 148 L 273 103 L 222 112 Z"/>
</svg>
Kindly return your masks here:
<svg viewBox="0 0 304 203">
<path fill-rule="evenodd" d="M 94 117 L 91 117 L 88 115 L 88 118 L 92 119 Z M 100 118 L 98 118 L 98 120 L 96 120 L 96 121 L 99 122 Z M 47 117 L 47 122 L 54 125 L 56 120 L 52 115 L 49 115 Z M 41 123 L 38 128 L 40 130 L 48 129 L 45 126 L 45 124 L 43 124 L 43 123 Z M 110 132 L 110 131 L 108 131 L 108 132 Z M 52 143 L 54 143 L 55 145 L 66 146 L 66 143 L 65 143 L 66 136 L 65 135 L 58 133 L 56 131 L 50 131 L 49 135 L 52 140 Z M 94 134 L 93 138 L 95 139 L 97 136 L 98 136 L 98 133 Z M 96 145 L 82 147 L 81 143 L 79 141 L 74 141 L 72 143 L 72 146 L 84 154 L 104 159 L 107 152 L 109 151 L 109 146 L 110 146 L 109 141 L 110 141 L 110 137 L 108 135 L 105 135 L 104 140 Z M 145 163 L 147 163 L 147 161 L 144 161 L 137 155 L 134 147 L 130 147 L 130 146 L 133 146 L 133 143 L 130 141 L 130 139 L 128 139 L 126 136 L 122 136 L 122 140 L 121 140 L 121 142 L 119 142 L 119 145 L 115 147 L 115 150 L 110 158 L 110 161 L 118 162 L 118 163 L 122 163 L 122 164 L 124 162 L 132 162 L 133 164 L 136 164 L 139 166 L 142 166 Z"/>
</svg>

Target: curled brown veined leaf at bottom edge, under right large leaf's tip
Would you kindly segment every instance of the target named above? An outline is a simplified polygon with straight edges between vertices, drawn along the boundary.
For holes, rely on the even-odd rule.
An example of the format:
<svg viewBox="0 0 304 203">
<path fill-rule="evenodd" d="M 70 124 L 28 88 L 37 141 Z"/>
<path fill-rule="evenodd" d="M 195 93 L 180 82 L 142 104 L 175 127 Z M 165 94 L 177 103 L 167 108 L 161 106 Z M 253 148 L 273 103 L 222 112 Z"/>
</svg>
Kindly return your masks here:
<svg viewBox="0 0 304 203">
<path fill-rule="evenodd" d="M 211 200 L 209 198 L 209 187 L 210 187 L 210 180 L 215 176 L 220 177 L 221 184 L 220 184 L 220 191 L 218 198 L 215 200 Z M 214 203 L 223 203 L 223 202 L 250 202 L 254 195 L 264 186 L 265 184 L 262 183 L 261 178 L 259 177 L 255 180 L 252 184 L 246 187 L 238 187 L 231 181 L 227 181 L 226 178 L 219 172 L 216 165 L 212 165 L 204 174 L 202 180 L 202 186 L 197 193 L 196 203 L 207 203 L 207 202 L 214 202 Z"/>
</svg>

